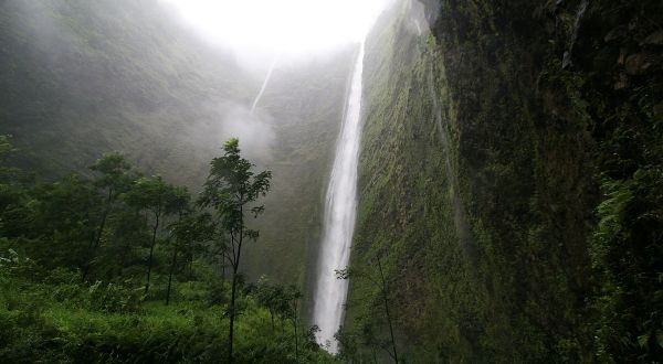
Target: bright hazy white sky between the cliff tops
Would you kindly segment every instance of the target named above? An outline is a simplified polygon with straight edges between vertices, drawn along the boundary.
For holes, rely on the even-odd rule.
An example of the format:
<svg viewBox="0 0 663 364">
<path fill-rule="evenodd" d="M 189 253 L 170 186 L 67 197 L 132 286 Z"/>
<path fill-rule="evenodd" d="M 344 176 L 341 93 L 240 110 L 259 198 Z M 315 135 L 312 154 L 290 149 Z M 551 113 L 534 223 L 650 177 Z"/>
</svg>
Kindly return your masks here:
<svg viewBox="0 0 663 364">
<path fill-rule="evenodd" d="M 164 0 L 239 52 L 304 55 L 361 41 L 389 0 Z"/>
</svg>

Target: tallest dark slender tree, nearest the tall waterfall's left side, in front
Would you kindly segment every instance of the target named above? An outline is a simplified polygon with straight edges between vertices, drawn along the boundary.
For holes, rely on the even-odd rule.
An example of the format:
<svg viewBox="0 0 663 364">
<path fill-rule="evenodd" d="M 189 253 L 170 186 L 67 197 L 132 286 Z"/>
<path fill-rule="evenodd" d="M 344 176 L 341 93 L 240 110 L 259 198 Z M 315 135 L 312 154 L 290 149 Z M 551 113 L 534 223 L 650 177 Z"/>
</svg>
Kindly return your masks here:
<svg viewBox="0 0 663 364">
<path fill-rule="evenodd" d="M 262 171 L 257 174 L 251 171 L 254 165 L 240 156 L 239 144 L 236 138 L 228 140 L 223 146 L 224 156 L 212 159 L 210 174 L 198 200 L 201 207 L 210 207 L 214 211 L 219 225 L 228 233 L 223 256 L 232 268 L 228 334 L 230 363 L 233 361 L 235 300 L 242 245 L 245 240 L 256 240 L 259 236 L 257 231 L 246 227 L 244 214 L 251 212 L 254 217 L 257 217 L 264 211 L 262 205 L 250 205 L 270 191 L 272 179 L 271 171 Z"/>
</svg>

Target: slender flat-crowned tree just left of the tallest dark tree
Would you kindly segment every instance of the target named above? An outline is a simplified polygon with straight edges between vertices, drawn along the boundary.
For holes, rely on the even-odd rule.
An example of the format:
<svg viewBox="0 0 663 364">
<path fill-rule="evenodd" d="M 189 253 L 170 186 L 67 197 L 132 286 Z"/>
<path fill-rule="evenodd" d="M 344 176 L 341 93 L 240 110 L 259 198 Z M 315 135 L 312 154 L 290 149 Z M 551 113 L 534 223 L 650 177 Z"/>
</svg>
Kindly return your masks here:
<svg viewBox="0 0 663 364">
<path fill-rule="evenodd" d="M 179 194 L 179 195 L 178 195 Z M 161 226 L 162 218 L 167 214 L 173 213 L 173 206 L 182 204 L 182 202 L 176 202 L 178 199 L 186 200 L 182 196 L 188 194 L 185 190 L 177 191 L 176 188 L 166 183 L 161 176 L 157 178 L 139 178 L 131 190 L 126 193 L 126 201 L 129 205 L 145 210 L 151 214 L 151 242 L 149 245 L 149 257 L 147 260 L 147 278 L 145 283 L 145 293 L 149 292 L 149 283 L 151 276 L 151 268 L 154 261 L 155 246 L 157 244 L 157 233 Z"/>
</svg>

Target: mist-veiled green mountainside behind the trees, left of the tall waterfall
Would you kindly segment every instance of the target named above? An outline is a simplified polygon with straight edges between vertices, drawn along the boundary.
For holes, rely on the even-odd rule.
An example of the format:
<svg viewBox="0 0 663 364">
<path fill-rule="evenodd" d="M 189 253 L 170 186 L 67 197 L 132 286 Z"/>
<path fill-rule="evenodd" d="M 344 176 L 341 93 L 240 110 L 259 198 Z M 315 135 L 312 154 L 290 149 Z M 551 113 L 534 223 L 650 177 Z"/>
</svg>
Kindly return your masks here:
<svg viewBox="0 0 663 364">
<path fill-rule="evenodd" d="M 278 63 L 253 125 L 248 107 L 264 71 L 239 65 L 167 3 L 0 2 L 0 132 L 22 150 L 12 163 L 50 180 L 91 176 L 90 161 L 122 150 L 144 173 L 198 193 L 219 143 L 238 136 L 246 157 L 274 172 L 267 213 L 252 222 L 260 243 L 240 269 L 303 286 L 354 47 Z"/>
</svg>

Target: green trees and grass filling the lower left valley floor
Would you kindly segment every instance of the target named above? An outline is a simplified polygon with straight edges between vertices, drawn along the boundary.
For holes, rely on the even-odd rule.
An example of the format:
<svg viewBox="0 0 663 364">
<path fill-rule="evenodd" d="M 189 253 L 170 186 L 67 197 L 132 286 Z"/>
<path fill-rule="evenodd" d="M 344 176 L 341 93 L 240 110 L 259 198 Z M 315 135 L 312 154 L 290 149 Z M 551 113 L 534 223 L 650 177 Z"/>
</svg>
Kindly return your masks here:
<svg viewBox="0 0 663 364">
<path fill-rule="evenodd" d="M 0 151 L 7 163 L 9 138 Z M 270 173 L 251 167 L 230 140 L 200 199 L 210 215 L 117 152 L 92 179 L 43 182 L 2 164 L 0 362 L 334 362 L 301 326 L 299 289 L 238 272 L 231 237 L 257 237 L 243 215 L 263 210 L 252 202 L 269 189 Z M 238 251 L 230 282 L 219 261 L 228 251 Z"/>
</svg>

